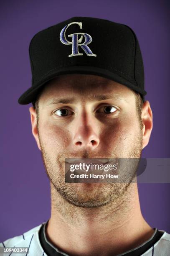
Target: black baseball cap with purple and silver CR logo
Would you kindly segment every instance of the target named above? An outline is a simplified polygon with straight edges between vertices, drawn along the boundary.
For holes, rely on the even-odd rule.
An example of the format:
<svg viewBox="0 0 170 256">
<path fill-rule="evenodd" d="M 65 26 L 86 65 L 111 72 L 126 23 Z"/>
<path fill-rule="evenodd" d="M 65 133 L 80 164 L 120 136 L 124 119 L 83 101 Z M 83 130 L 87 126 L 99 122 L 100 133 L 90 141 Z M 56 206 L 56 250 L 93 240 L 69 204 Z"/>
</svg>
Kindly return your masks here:
<svg viewBox="0 0 170 256">
<path fill-rule="evenodd" d="M 38 32 L 29 46 L 32 86 L 19 104 L 36 101 L 43 86 L 63 74 L 94 74 L 139 92 L 144 67 L 137 37 L 131 28 L 109 20 L 74 17 Z"/>
</svg>

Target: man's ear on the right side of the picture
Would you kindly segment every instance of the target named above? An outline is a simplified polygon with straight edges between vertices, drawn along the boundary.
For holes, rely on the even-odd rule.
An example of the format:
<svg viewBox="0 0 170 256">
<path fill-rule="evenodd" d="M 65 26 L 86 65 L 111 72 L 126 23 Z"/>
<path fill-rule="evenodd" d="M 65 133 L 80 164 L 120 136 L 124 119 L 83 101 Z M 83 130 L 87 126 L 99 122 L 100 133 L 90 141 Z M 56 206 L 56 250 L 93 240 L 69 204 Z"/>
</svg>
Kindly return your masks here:
<svg viewBox="0 0 170 256">
<path fill-rule="evenodd" d="M 145 146 L 147 146 L 147 144 L 149 143 L 150 135 L 153 127 L 152 110 L 150 108 L 150 102 L 148 100 L 146 100 L 143 103 L 141 118 L 143 123 L 143 129 L 142 129 L 143 148 L 145 148 Z"/>
</svg>

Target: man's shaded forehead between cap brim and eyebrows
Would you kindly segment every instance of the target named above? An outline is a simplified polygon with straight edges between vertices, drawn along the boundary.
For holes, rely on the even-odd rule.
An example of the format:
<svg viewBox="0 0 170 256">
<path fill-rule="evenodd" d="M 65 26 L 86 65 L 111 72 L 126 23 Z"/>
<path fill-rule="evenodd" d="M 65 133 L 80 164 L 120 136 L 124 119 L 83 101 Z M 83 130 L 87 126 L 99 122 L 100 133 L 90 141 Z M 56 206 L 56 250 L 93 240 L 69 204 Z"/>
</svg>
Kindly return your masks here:
<svg viewBox="0 0 170 256">
<path fill-rule="evenodd" d="M 69 95 L 88 99 L 94 94 L 112 95 L 124 99 L 134 96 L 131 89 L 110 79 L 90 74 L 68 74 L 48 82 L 41 94 L 41 100 L 46 102 L 51 97 Z"/>
</svg>

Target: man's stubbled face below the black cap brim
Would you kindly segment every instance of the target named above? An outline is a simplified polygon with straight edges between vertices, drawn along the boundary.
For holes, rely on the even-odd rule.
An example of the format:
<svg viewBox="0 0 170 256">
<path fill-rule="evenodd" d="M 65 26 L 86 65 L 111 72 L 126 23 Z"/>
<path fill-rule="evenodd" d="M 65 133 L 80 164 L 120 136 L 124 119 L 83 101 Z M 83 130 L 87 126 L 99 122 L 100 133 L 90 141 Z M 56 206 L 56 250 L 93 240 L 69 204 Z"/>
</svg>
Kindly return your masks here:
<svg viewBox="0 0 170 256">
<path fill-rule="evenodd" d="M 46 173 L 66 201 L 80 207 L 109 204 L 129 184 L 65 183 L 65 158 L 140 158 L 134 92 L 94 75 L 60 76 L 41 94 L 38 139 Z"/>
</svg>

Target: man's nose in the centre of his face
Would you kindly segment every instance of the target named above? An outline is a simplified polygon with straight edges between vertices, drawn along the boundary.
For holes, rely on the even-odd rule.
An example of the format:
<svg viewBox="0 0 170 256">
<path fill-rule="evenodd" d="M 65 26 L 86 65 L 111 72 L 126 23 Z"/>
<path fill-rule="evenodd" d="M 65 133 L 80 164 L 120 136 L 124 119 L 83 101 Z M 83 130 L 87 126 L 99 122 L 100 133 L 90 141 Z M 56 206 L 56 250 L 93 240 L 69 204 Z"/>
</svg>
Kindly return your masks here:
<svg viewBox="0 0 170 256">
<path fill-rule="evenodd" d="M 79 148 L 95 149 L 99 145 L 99 136 L 92 125 L 80 125 L 76 130 L 73 143 Z"/>
</svg>

